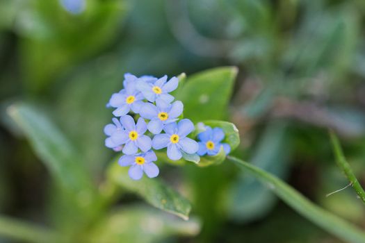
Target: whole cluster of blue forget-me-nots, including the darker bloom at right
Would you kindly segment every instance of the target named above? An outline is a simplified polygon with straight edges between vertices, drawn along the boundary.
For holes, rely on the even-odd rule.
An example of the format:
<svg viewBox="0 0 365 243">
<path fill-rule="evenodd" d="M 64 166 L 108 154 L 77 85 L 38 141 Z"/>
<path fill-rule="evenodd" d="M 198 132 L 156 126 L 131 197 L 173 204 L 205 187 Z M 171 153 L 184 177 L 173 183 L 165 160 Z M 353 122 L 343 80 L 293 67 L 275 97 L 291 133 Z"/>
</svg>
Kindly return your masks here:
<svg viewBox="0 0 365 243">
<path fill-rule="evenodd" d="M 105 145 L 124 154 L 119 164 L 129 166 L 129 176 L 139 180 L 146 174 L 149 178 L 159 175 L 159 167 L 153 151 L 165 149 L 170 160 L 179 160 L 185 155 L 216 155 L 220 146 L 229 153 L 228 144 L 221 141 L 225 134 L 221 128 L 206 127 L 198 134 L 200 142 L 188 137 L 194 131 L 190 119 L 181 119 L 184 104 L 175 101 L 170 92 L 177 89 L 179 79 L 163 76 L 136 77 L 125 74 L 124 88 L 111 96 L 107 107 L 114 108 L 112 121 L 104 127 L 108 136 Z"/>
</svg>

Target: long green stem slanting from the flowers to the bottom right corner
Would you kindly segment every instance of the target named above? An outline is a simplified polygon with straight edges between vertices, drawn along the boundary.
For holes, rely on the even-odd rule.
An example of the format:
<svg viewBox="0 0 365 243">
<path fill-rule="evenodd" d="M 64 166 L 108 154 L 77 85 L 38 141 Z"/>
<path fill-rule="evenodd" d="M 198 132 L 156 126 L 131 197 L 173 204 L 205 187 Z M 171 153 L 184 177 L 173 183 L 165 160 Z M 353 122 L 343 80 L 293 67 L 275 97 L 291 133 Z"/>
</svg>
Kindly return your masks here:
<svg viewBox="0 0 365 243">
<path fill-rule="evenodd" d="M 323 210 L 314 203 L 311 203 L 311 201 L 302 196 L 302 194 L 294 190 L 293 187 L 284 183 L 284 181 L 281 181 L 276 176 L 238 158 L 227 156 L 227 159 L 236 163 L 244 171 L 259 179 L 263 185 L 266 185 L 268 189 L 272 190 L 280 199 L 291 206 L 291 208 L 314 224 L 323 228 L 325 231 L 336 235 L 345 242 L 365 242 L 365 233 L 362 232 L 362 230 L 340 217 L 333 215 L 331 212 Z"/>
</svg>

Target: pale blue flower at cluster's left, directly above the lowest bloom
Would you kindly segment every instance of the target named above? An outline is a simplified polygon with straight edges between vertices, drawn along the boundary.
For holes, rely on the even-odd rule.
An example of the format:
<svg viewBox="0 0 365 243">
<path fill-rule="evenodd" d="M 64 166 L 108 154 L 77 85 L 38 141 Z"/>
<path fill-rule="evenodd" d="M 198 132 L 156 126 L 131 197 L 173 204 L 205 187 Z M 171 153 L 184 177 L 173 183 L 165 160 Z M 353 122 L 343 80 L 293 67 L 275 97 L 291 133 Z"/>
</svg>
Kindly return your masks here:
<svg viewBox="0 0 365 243">
<path fill-rule="evenodd" d="M 147 131 L 147 124 L 142 117 L 138 119 L 137 124 L 130 115 L 120 117 L 120 122 L 125 131 L 113 135 L 113 141 L 117 144 L 125 144 L 123 153 L 131 155 L 137 153 L 138 148 L 143 152 L 151 149 L 152 141 L 150 137 L 144 135 Z"/>
</svg>

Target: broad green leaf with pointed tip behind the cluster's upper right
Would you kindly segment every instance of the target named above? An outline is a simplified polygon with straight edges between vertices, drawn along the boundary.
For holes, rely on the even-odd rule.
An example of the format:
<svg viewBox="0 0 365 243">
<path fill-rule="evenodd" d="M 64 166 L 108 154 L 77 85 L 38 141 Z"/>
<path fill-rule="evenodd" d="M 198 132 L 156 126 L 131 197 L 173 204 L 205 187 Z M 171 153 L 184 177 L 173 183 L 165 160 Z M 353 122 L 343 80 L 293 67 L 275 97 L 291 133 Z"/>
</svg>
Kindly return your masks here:
<svg viewBox="0 0 365 243">
<path fill-rule="evenodd" d="M 218 67 L 188 77 L 176 94 L 184 103 L 184 117 L 194 122 L 225 119 L 237 67 Z"/>
</svg>

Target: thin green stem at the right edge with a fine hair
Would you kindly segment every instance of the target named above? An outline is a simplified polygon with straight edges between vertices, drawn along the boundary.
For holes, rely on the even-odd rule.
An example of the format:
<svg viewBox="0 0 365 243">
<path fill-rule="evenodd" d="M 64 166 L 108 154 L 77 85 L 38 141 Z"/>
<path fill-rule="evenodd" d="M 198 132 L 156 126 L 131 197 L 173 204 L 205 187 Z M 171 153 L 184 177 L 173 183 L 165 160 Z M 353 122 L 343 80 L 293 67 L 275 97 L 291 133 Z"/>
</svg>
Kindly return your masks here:
<svg viewBox="0 0 365 243">
<path fill-rule="evenodd" d="M 360 185 L 359 181 L 357 181 L 357 178 L 355 174 L 352 172 L 350 164 L 348 164 L 348 162 L 346 161 L 345 156 L 343 156 L 343 151 L 341 149 L 339 139 L 332 131 L 330 131 L 330 137 L 337 165 L 339 165 L 339 167 L 342 169 L 343 173 L 348 178 L 348 181 L 350 181 L 357 195 L 359 195 L 359 198 L 362 199 L 362 201 L 365 203 L 365 191 L 364 189 L 362 189 L 362 186 Z"/>
</svg>

